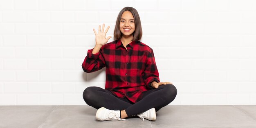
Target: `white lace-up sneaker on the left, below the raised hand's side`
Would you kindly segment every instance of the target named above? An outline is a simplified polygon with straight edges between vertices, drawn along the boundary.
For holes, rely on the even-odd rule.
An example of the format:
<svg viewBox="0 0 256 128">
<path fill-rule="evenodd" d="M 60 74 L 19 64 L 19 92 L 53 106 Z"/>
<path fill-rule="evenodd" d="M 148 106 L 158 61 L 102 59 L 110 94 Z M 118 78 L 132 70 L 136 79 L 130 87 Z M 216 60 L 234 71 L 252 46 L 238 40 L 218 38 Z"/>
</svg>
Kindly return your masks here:
<svg viewBox="0 0 256 128">
<path fill-rule="evenodd" d="M 107 108 L 101 107 L 96 113 L 96 119 L 103 120 L 125 120 L 121 119 L 119 110 L 109 110 Z"/>
</svg>

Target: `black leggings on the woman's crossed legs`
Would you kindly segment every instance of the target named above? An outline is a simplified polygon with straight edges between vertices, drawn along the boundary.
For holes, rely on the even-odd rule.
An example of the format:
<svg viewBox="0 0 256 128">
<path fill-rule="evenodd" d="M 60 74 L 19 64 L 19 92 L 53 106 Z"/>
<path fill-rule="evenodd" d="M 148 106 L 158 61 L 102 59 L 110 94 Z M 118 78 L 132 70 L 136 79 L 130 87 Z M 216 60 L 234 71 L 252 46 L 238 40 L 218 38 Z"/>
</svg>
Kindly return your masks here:
<svg viewBox="0 0 256 128">
<path fill-rule="evenodd" d="M 155 108 L 155 111 L 158 111 L 171 103 L 176 95 L 177 89 L 174 85 L 160 85 L 157 89 L 146 91 L 141 100 L 133 103 L 127 98 L 119 98 L 100 87 L 87 87 L 83 91 L 83 100 L 96 109 L 105 107 L 110 110 L 125 110 L 128 117 L 131 117 L 150 108 Z"/>
</svg>

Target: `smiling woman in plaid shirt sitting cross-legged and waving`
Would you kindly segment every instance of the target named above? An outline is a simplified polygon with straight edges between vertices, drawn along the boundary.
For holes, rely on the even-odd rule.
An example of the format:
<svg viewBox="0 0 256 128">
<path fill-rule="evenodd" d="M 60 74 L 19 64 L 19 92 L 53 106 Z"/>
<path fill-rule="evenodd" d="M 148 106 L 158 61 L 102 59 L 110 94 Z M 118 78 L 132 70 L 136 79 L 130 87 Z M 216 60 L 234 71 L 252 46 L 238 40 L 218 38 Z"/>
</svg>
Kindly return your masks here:
<svg viewBox="0 0 256 128">
<path fill-rule="evenodd" d="M 141 22 L 136 9 L 125 7 L 119 12 L 110 43 L 99 25 L 96 45 L 88 50 L 82 68 L 95 72 L 106 66 L 106 86 L 88 87 L 83 92 L 85 102 L 98 109 L 98 120 L 125 120 L 138 116 L 155 121 L 156 112 L 171 103 L 177 89 L 171 82 L 160 82 L 153 50 L 139 41 Z"/>
</svg>

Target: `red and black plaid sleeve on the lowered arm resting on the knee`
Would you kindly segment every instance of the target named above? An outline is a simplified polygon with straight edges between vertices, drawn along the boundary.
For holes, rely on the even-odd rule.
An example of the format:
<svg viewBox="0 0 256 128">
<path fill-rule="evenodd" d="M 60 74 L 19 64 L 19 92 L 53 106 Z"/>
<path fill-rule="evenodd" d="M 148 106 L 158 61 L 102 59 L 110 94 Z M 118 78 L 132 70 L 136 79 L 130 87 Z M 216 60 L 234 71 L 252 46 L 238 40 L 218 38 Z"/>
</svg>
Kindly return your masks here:
<svg viewBox="0 0 256 128">
<path fill-rule="evenodd" d="M 144 71 L 144 82 L 148 89 L 154 89 L 154 87 L 151 86 L 153 81 L 160 82 L 154 52 L 151 50 L 151 52 L 149 52 L 147 55 L 146 67 Z"/>
</svg>

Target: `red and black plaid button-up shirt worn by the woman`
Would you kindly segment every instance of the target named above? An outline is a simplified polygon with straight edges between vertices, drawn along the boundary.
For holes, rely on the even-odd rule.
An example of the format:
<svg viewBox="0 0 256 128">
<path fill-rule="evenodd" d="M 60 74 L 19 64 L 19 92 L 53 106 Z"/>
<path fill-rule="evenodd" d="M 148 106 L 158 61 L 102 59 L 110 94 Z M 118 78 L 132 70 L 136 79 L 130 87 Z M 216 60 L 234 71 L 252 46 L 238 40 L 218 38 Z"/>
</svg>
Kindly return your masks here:
<svg viewBox="0 0 256 128">
<path fill-rule="evenodd" d="M 151 82 L 160 82 L 159 73 L 152 48 L 140 41 L 132 41 L 126 48 L 117 39 L 103 45 L 96 54 L 90 49 L 82 68 L 95 72 L 106 66 L 105 89 L 136 103 L 144 91 L 153 89 Z"/>
</svg>

